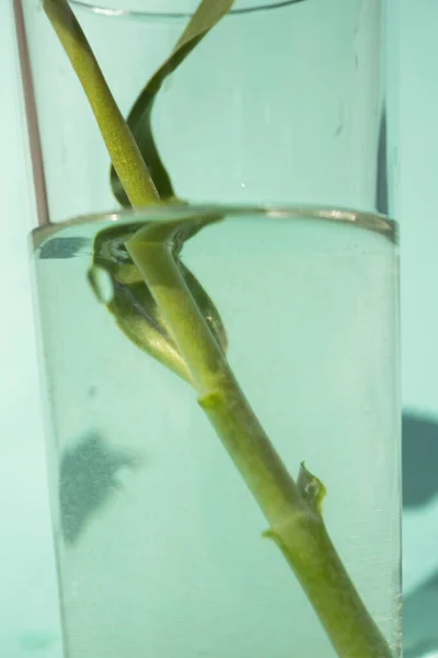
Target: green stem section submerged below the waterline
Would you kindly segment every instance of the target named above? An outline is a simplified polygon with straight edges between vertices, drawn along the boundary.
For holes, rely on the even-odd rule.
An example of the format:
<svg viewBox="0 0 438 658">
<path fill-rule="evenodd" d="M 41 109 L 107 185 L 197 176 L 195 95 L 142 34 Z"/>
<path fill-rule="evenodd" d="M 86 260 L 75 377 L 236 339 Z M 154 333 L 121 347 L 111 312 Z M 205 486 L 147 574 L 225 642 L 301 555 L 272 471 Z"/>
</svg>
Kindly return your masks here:
<svg viewBox="0 0 438 658">
<path fill-rule="evenodd" d="M 349 579 L 318 500 L 296 484 L 240 389 L 170 248 L 140 229 L 126 247 L 192 372 L 198 401 L 216 429 L 311 601 L 339 658 L 390 658 L 391 650 Z M 310 475 L 310 474 L 308 474 Z M 309 480 L 310 481 L 310 480 Z M 315 478 L 312 483 L 318 483 Z"/>
</svg>

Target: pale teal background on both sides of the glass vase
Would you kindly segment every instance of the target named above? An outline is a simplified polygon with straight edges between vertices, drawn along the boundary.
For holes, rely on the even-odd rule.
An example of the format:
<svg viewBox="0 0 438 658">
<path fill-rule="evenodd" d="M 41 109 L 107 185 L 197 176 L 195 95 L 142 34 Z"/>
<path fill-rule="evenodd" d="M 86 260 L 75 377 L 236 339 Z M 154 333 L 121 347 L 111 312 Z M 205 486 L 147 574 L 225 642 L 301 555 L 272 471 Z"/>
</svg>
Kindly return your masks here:
<svg viewBox="0 0 438 658">
<path fill-rule="evenodd" d="M 438 417 L 436 281 L 438 3 L 391 0 L 400 10 L 395 214 L 402 228 L 403 404 Z M 391 37 L 397 27 L 390 19 Z M 0 5 L 2 305 L 0 325 L 0 656 L 60 658 L 43 421 L 25 235 L 32 225 L 30 169 L 11 3 Z M 404 513 L 407 648 L 438 637 L 438 496 Z M 414 656 L 411 651 L 406 655 Z"/>
</svg>

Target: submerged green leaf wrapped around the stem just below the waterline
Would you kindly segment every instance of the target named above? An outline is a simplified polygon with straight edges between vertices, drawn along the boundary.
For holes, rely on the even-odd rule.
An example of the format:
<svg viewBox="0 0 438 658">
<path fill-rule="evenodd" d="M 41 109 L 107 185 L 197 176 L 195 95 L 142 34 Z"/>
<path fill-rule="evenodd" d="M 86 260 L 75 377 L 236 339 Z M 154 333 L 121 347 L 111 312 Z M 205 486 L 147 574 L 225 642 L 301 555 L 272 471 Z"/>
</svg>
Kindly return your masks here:
<svg viewBox="0 0 438 658">
<path fill-rule="evenodd" d="M 196 235 L 203 226 L 219 218 L 219 216 L 187 218 L 147 225 L 153 227 L 154 240 L 171 245 L 175 262 L 192 295 L 219 345 L 226 351 L 227 333 L 219 311 L 199 281 L 180 259 L 184 242 Z M 125 247 L 125 242 L 139 230 L 139 227 L 141 227 L 139 224 L 125 224 L 97 234 L 89 282 L 95 292 L 93 272 L 96 270 L 107 272 L 112 280 L 113 293 L 106 303 L 106 308 L 114 316 L 122 331 L 141 350 L 166 365 L 183 379 L 192 382 L 189 371 L 170 336 L 164 318 Z"/>
</svg>

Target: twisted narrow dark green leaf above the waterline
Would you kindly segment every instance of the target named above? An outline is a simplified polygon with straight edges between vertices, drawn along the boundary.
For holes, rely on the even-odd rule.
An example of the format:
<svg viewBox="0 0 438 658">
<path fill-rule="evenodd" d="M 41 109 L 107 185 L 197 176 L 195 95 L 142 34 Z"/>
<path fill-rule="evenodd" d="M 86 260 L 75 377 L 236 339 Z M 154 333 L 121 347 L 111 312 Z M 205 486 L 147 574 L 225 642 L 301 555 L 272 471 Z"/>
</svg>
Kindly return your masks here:
<svg viewBox="0 0 438 658">
<path fill-rule="evenodd" d="M 128 126 L 138 144 L 158 193 L 163 200 L 175 198 L 175 193 L 153 139 L 151 125 L 153 102 L 168 76 L 176 70 L 206 34 L 230 11 L 233 1 L 201 0 L 172 54 L 149 80 L 129 113 Z M 129 207 L 130 203 L 114 167 L 111 169 L 111 184 L 117 201 L 124 207 Z"/>
</svg>

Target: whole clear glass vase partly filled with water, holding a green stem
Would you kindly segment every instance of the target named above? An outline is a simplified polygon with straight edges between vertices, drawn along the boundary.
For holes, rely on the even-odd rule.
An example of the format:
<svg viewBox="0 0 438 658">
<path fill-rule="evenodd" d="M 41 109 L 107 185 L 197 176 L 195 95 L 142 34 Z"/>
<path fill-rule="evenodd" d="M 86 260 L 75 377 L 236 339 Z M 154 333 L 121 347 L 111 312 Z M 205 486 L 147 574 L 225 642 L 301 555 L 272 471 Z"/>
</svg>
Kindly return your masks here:
<svg viewBox="0 0 438 658">
<path fill-rule="evenodd" d="M 397 658 L 385 5 L 235 0 L 157 196 L 197 4 L 15 0 L 65 655 Z"/>
</svg>

